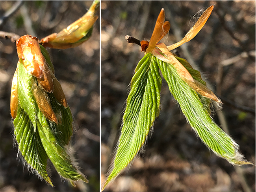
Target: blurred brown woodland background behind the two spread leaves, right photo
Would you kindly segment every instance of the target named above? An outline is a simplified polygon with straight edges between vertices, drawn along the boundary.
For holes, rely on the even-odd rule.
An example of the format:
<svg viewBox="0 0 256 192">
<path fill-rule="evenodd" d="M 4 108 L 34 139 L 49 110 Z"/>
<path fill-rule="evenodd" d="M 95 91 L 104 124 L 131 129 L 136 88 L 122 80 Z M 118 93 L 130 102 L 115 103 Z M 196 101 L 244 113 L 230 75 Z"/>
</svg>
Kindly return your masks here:
<svg viewBox="0 0 256 192">
<path fill-rule="evenodd" d="M 171 22 L 167 45 L 181 40 L 215 5 L 198 35 L 175 53 L 200 69 L 223 101 L 213 118 L 255 163 L 255 1 L 102 1 L 100 5 L 100 179 L 113 158 L 129 83 L 140 47 L 126 35 L 150 40 L 161 8 Z M 197 13 L 197 14 L 195 14 Z M 253 192 L 255 166 L 217 157 L 187 124 L 165 80 L 161 112 L 145 151 L 106 192 Z"/>
</svg>

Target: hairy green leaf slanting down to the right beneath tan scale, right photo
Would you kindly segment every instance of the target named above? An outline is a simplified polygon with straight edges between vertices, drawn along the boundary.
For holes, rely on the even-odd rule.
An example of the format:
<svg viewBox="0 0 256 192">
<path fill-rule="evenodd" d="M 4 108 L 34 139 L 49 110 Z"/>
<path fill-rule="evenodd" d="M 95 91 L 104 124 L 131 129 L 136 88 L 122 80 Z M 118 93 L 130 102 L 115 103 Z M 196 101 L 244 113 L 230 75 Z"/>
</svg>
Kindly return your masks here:
<svg viewBox="0 0 256 192">
<path fill-rule="evenodd" d="M 239 146 L 211 119 L 206 107 L 200 101 L 197 92 L 188 86 L 173 65 L 156 59 L 170 92 L 180 104 L 187 121 L 216 155 L 235 165 L 250 164 L 239 153 Z"/>
</svg>

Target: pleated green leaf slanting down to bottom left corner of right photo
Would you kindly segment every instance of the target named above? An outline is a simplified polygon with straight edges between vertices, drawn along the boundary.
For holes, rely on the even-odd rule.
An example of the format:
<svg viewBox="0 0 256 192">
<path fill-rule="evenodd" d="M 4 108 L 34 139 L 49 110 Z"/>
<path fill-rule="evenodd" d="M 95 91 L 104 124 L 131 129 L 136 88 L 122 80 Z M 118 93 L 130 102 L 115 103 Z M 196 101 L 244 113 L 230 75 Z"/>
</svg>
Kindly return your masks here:
<svg viewBox="0 0 256 192">
<path fill-rule="evenodd" d="M 148 53 L 141 59 L 132 77 L 113 168 L 103 189 L 134 159 L 145 143 L 148 132 L 159 115 L 160 91 L 158 64 L 156 58 Z"/>
</svg>

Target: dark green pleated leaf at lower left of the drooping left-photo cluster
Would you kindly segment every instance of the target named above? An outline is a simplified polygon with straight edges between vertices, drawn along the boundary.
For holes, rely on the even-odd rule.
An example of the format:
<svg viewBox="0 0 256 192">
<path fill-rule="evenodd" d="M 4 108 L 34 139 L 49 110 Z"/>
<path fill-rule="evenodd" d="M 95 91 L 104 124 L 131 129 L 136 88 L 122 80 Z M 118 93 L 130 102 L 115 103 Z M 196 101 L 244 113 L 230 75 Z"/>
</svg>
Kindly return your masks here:
<svg viewBox="0 0 256 192">
<path fill-rule="evenodd" d="M 50 185 L 52 182 L 46 172 L 48 156 L 43 148 L 38 131 L 34 131 L 28 114 L 22 108 L 18 108 L 17 117 L 13 121 L 15 139 L 19 150 L 29 166 L 35 169 L 39 176 Z M 53 186 L 53 185 L 52 185 Z"/>
</svg>

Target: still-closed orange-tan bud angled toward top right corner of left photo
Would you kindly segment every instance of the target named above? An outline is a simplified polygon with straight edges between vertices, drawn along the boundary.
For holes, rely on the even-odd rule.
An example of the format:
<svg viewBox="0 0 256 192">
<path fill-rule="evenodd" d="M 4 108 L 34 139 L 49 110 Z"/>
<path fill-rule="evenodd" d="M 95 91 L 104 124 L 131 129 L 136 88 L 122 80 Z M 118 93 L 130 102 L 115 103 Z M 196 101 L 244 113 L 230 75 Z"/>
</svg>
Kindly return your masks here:
<svg viewBox="0 0 256 192">
<path fill-rule="evenodd" d="M 85 15 L 59 33 L 53 33 L 41 39 L 40 44 L 54 49 L 67 49 L 79 46 L 91 37 L 93 24 L 98 19 L 95 13 L 99 6 L 100 1 L 94 1 Z"/>
</svg>

